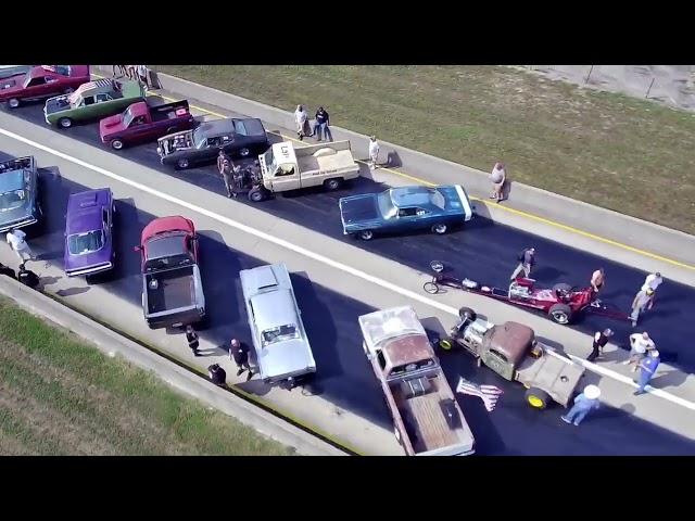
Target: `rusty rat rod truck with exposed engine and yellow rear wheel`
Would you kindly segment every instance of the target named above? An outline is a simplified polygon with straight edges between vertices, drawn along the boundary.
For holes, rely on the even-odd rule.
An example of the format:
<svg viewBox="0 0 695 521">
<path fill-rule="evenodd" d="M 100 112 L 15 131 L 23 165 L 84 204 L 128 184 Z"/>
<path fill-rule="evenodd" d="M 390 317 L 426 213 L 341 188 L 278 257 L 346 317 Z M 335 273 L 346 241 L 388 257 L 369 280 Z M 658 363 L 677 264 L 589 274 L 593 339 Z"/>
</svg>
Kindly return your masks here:
<svg viewBox="0 0 695 521">
<path fill-rule="evenodd" d="M 518 322 L 495 326 L 462 307 L 459 322 L 450 336 L 439 341 L 442 350 L 462 346 L 502 378 L 526 389 L 527 403 L 544 409 L 551 399 L 567 407 L 574 396 L 584 368 L 535 340 L 534 331 Z"/>
</svg>

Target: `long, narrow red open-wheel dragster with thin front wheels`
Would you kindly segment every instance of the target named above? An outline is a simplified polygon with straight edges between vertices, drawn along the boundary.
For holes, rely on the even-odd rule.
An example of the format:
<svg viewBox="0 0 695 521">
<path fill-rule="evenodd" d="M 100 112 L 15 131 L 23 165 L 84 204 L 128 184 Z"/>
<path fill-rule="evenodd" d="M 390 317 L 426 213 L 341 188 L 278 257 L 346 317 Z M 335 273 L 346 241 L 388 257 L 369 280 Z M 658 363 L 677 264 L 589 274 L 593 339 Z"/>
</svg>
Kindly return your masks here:
<svg viewBox="0 0 695 521">
<path fill-rule="evenodd" d="M 578 314 L 584 312 L 616 320 L 629 320 L 626 313 L 597 298 L 592 288 L 577 289 L 565 282 L 557 283 L 551 289 L 536 288 L 534 279 L 517 277 L 510 281 L 508 288 L 504 289 L 448 275 L 446 272 L 448 270 L 440 260 L 432 260 L 430 268 L 432 280 L 422 284 L 422 289 L 431 295 L 444 292 L 444 288 L 454 288 L 543 312 L 553 321 L 561 325 L 570 323 Z"/>
</svg>

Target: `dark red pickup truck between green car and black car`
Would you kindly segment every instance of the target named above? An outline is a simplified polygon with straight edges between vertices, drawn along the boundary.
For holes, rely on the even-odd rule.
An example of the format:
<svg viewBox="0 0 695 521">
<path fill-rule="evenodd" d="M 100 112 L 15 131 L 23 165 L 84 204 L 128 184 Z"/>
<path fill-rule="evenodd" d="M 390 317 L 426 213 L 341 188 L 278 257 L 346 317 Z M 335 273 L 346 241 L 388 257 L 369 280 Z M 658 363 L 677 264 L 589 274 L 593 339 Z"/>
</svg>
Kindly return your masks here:
<svg viewBox="0 0 695 521">
<path fill-rule="evenodd" d="M 156 141 L 194 126 L 195 119 L 186 100 L 155 106 L 140 101 L 128 106 L 123 114 L 99 122 L 99 136 L 102 143 L 121 150 L 126 144 Z"/>
</svg>

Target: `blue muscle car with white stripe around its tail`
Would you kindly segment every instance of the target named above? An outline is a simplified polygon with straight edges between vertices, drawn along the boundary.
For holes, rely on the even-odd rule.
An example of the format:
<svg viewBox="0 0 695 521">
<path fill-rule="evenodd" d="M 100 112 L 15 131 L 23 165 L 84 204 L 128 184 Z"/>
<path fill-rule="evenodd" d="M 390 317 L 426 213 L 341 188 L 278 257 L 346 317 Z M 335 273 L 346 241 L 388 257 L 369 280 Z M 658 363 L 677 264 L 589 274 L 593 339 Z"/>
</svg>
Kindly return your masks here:
<svg viewBox="0 0 695 521">
<path fill-rule="evenodd" d="M 446 233 L 473 216 L 473 207 L 460 185 L 391 188 L 339 201 L 343 233 L 368 241 L 375 232 L 431 229 Z"/>
</svg>

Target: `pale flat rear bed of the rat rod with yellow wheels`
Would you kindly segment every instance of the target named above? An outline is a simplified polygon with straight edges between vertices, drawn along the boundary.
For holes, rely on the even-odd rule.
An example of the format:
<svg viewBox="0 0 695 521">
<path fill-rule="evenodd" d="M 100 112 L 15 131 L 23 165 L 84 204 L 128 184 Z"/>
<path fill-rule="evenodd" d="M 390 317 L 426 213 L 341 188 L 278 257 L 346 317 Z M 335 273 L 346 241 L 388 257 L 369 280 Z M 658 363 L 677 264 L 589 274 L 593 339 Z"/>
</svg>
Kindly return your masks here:
<svg viewBox="0 0 695 521">
<path fill-rule="evenodd" d="M 531 387 L 539 387 L 561 405 L 567 405 L 574 394 L 584 368 L 561 355 L 544 351 L 541 358 L 528 356 L 517 370 L 517 380 Z"/>
</svg>

